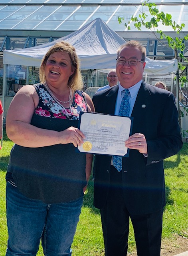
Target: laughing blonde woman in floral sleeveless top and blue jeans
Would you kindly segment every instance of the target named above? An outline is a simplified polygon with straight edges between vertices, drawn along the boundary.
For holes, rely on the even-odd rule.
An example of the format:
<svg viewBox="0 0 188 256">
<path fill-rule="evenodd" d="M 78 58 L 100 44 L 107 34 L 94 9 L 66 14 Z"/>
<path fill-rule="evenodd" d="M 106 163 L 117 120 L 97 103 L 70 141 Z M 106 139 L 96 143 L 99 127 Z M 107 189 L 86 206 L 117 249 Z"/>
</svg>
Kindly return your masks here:
<svg viewBox="0 0 188 256">
<path fill-rule="evenodd" d="M 70 256 L 92 155 L 75 152 L 84 134 L 79 111 L 94 111 L 80 91 L 75 48 L 52 46 L 40 66 L 40 84 L 22 87 L 12 100 L 6 132 L 15 142 L 6 174 L 7 256 Z"/>
</svg>

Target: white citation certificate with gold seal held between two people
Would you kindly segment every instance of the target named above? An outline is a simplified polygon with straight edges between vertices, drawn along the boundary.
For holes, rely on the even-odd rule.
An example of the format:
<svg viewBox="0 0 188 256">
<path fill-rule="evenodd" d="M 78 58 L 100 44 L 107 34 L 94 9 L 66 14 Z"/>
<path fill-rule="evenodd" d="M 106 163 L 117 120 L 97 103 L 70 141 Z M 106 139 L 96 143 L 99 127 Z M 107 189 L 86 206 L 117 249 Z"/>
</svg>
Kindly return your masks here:
<svg viewBox="0 0 188 256">
<path fill-rule="evenodd" d="M 133 117 L 80 112 L 78 128 L 85 138 L 79 152 L 129 156 L 125 140 L 130 136 Z"/>
</svg>

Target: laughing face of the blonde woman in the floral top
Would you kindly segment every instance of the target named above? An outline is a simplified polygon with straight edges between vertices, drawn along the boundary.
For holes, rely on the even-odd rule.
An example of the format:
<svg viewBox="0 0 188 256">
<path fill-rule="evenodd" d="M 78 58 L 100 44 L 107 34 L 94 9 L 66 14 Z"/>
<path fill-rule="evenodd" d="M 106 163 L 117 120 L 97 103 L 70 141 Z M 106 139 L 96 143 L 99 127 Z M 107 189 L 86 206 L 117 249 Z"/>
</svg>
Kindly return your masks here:
<svg viewBox="0 0 188 256">
<path fill-rule="evenodd" d="M 44 69 L 47 84 L 67 85 L 69 77 L 74 73 L 71 66 L 71 59 L 67 52 L 52 53 Z"/>
</svg>

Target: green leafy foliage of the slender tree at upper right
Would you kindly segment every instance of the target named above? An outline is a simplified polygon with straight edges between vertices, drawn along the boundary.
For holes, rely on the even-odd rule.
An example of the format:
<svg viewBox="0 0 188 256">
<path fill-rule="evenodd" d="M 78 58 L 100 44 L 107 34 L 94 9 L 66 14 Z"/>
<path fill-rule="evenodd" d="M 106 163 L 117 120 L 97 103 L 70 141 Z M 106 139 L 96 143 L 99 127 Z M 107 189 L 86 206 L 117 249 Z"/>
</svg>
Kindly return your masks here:
<svg viewBox="0 0 188 256">
<path fill-rule="evenodd" d="M 158 8 L 156 7 L 157 5 L 148 1 L 145 1 L 142 3 L 142 10 L 140 11 L 140 14 L 138 17 L 132 16 L 130 20 L 127 20 L 127 23 L 125 23 L 125 27 L 127 30 L 131 30 L 131 23 L 134 23 L 135 28 L 137 30 L 141 31 L 142 27 L 147 28 L 150 30 L 154 36 L 156 37 L 157 40 L 159 40 L 162 44 L 164 44 L 162 39 L 166 39 L 168 42 L 168 46 L 172 48 L 175 52 L 175 58 L 178 60 L 178 71 L 176 74 L 176 84 L 178 86 L 178 92 L 180 91 L 180 86 L 183 87 L 183 85 L 188 82 L 186 76 L 183 76 L 183 72 L 185 70 L 185 66 L 180 63 L 179 60 L 182 62 L 188 62 L 187 58 L 183 55 L 183 52 L 185 50 L 185 41 L 188 40 L 188 34 L 185 34 L 183 32 L 183 29 L 185 27 L 185 24 L 177 24 L 175 21 L 172 20 L 172 15 L 171 14 L 165 14 L 164 12 L 159 12 Z M 148 9 L 150 15 L 152 18 L 149 21 L 148 20 L 148 15 L 146 14 L 144 9 Z M 121 24 L 123 21 L 125 21 L 125 17 L 118 17 L 118 22 Z M 172 38 L 171 36 L 165 34 L 162 30 L 158 30 L 158 25 L 162 24 L 164 26 L 170 26 L 177 34 L 175 38 Z M 183 35 L 180 37 L 180 32 Z M 159 34 L 160 38 L 157 37 L 156 34 Z M 179 35 L 179 37 L 178 37 Z M 166 45 L 166 44 L 164 44 Z M 178 58 L 179 57 L 179 58 Z M 179 75 L 181 71 L 181 74 Z M 178 99 L 178 95 L 176 96 Z M 178 104 L 177 104 L 178 105 Z M 179 122 L 181 126 L 181 117 L 184 116 L 184 114 L 188 115 L 188 108 L 184 107 L 184 111 L 181 111 L 179 106 L 177 106 L 178 112 L 179 112 Z M 182 131 L 188 132 L 188 131 Z"/>
</svg>

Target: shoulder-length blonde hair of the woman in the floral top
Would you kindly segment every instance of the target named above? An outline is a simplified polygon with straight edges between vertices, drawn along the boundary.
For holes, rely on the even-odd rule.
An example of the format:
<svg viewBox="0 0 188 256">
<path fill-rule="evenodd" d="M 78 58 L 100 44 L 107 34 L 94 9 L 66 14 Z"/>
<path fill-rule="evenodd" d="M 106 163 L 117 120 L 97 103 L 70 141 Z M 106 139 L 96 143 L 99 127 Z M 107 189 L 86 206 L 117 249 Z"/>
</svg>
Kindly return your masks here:
<svg viewBox="0 0 188 256">
<path fill-rule="evenodd" d="M 40 82 L 44 83 L 46 81 L 44 71 L 46 67 L 46 62 L 49 56 L 54 52 L 67 52 L 67 54 L 69 54 L 69 57 L 71 59 L 71 66 L 74 70 L 74 73 L 69 77 L 68 86 L 70 86 L 73 90 L 79 90 L 83 88 L 83 81 L 80 72 L 80 61 L 76 54 L 76 50 L 74 46 L 65 41 L 60 41 L 54 44 L 43 57 L 39 70 Z"/>
</svg>

